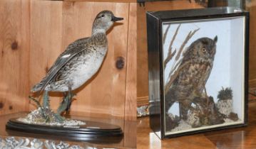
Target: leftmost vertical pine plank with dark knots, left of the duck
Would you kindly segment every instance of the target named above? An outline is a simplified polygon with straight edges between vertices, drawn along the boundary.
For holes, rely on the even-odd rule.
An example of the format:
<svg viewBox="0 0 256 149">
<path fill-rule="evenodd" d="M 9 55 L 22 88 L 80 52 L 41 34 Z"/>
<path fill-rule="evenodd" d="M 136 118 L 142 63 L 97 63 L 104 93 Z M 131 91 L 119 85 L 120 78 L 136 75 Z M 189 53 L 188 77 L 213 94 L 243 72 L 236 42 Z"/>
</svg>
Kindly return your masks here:
<svg viewBox="0 0 256 149">
<path fill-rule="evenodd" d="M 29 1 L 0 1 L 0 114 L 24 111 L 29 92 Z"/>
</svg>

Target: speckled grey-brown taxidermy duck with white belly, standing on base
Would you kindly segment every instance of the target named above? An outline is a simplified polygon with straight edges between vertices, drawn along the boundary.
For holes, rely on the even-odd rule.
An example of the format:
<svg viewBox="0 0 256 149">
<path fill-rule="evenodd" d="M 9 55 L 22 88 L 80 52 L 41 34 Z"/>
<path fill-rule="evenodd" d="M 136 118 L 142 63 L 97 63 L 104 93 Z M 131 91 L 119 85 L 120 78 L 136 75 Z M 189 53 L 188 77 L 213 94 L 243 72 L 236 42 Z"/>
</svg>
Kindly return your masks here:
<svg viewBox="0 0 256 149">
<path fill-rule="evenodd" d="M 33 94 L 43 92 L 44 111 L 50 109 L 48 92 L 63 92 L 63 101 L 55 114 L 59 121 L 63 121 L 61 113 L 70 108 L 72 91 L 93 77 L 103 63 L 108 50 L 106 31 L 121 20 L 123 18 L 114 16 L 111 11 L 101 11 L 93 21 L 91 37 L 74 41 L 58 56 L 46 77 L 31 89 Z"/>
</svg>

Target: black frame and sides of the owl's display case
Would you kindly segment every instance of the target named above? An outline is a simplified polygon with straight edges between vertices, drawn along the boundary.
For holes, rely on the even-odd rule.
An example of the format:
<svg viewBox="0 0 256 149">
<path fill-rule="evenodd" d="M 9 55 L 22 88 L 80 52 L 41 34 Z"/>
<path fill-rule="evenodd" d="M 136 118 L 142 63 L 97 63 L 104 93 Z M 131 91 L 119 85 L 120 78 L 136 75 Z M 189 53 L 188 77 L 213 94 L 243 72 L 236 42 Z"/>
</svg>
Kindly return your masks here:
<svg viewBox="0 0 256 149">
<path fill-rule="evenodd" d="M 234 7 L 215 7 L 208 9 L 187 9 L 178 11 L 150 11 L 147 12 L 148 32 L 148 80 L 149 80 L 149 103 L 150 103 L 150 128 L 160 138 L 171 138 L 206 131 L 217 131 L 226 128 L 247 126 L 247 91 L 248 91 L 248 53 L 249 53 L 249 13 Z M 164 104 L 163 103 L 163 44 L 162 23 L 168 21 L 191 21 L 212 18 L 229 18 L 245 16 L 245 80 L 244 80 L 244 123 L 218 128 L 208 128 L 200 131 L 189 131 L 166 135 L 164 131 Z"/>
</svg>

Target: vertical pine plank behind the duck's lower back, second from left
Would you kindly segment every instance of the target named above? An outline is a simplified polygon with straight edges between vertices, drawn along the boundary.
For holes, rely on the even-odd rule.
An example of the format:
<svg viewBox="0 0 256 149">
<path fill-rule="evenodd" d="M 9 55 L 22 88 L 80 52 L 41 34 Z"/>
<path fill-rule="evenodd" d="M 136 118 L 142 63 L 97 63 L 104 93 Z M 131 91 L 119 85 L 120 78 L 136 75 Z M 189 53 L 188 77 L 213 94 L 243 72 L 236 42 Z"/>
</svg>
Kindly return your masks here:
<svg viewBox="0 0 256 149">
<path fill-rule="evenodd" d="M 62 49 L 62 2 L 31 1 L 30 88 L 46 75 Z M 27 93 L 28 94 L 28 93 Z M 51 106 L 58 108 L 60 97 L 51 97 Z M 31 101 L 30 110 L 35 109 Z"/>
</svg>

